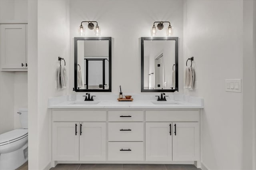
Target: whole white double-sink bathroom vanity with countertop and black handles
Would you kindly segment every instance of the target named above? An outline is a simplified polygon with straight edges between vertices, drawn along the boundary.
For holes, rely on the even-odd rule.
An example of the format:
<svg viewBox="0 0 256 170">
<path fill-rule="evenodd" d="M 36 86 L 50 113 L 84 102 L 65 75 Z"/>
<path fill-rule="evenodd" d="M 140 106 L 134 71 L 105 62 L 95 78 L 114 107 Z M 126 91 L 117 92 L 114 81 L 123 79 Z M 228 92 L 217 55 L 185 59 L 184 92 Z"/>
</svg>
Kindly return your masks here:
<svg viewBox="0 0 256 170">
<path fill-rule="evenodd" d="M 110 100 L 96 96 L 92 102 L 49 99 L 52 166 L 138 163 L 200 167 L 202 99 L 170 95 L 176 100 L 164 103 L 154 100 L 154 95 L 133 95 L 133 102 L 118 102 L 116 95 L 108 96 Z"/>
</svg>

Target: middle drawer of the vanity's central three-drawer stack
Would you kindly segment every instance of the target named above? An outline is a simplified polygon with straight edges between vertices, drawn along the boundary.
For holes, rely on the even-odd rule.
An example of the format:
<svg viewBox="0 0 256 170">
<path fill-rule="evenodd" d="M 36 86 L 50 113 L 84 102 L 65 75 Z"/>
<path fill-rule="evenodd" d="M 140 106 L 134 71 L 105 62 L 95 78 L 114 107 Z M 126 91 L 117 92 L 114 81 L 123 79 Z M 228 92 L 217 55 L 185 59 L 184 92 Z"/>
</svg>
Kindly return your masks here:
<svg viewBox="0 0 256 170">
<path fill-rule="evenodd" d="M 143 141 L 143 123 L 108 123 L 108 141 Z"/>
</svg>

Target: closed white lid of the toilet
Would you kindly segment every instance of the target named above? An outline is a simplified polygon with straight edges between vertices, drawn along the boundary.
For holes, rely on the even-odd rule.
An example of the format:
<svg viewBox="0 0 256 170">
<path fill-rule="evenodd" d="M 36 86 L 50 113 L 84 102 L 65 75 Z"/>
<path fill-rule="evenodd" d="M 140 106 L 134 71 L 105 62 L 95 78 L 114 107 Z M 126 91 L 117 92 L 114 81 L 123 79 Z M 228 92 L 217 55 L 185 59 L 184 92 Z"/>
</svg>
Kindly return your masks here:
<svg viewBox="0 0 256 170">
<path fill-rule="evenodd" d="M 9 132 L 0 134 L 0 145 L 5 142 L 13 142 L 28 136 L 28 129 L 15 129 Z"/>
</svg>

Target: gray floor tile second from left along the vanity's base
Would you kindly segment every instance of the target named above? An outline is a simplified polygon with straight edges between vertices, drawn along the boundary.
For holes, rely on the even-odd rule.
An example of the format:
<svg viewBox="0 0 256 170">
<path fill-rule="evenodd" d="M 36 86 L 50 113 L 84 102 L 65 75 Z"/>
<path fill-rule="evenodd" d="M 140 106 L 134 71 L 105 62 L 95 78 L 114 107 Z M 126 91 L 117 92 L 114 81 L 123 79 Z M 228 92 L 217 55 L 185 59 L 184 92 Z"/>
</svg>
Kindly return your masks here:
<svg viewBox="0 0 256 170">
<path fill-rule="evenodd" d="M 122 164 L 81 164 L 79 170 L 122 170 Z"/>
</svg>

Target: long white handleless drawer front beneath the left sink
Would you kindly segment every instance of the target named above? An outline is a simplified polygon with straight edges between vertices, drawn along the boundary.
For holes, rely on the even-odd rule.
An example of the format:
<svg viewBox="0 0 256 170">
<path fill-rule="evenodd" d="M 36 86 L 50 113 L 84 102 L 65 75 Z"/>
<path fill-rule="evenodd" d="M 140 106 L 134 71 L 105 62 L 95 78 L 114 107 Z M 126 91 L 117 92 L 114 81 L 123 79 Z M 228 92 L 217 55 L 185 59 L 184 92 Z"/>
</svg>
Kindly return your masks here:
<svg viewBox="0 0 256 170">
<path fill-rule="evenodd" d="M 53 121 L 106 121 L 106 111 L 52 111 Z"/>
</svg>

